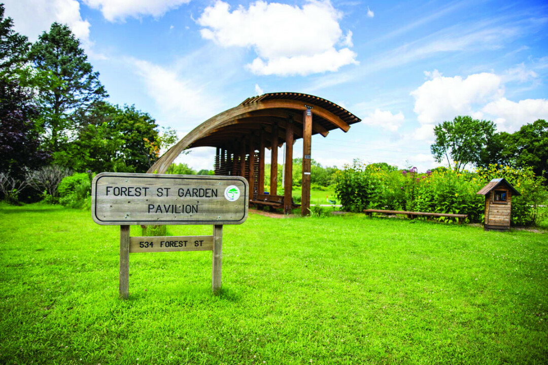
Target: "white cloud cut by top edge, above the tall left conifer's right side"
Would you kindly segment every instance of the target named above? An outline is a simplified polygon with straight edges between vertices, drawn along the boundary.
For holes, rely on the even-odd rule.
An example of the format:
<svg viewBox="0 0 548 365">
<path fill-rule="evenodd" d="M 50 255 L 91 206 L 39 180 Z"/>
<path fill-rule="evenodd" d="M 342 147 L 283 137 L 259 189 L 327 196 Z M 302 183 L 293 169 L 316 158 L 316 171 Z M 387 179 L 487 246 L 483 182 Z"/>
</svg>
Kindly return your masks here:
<svg viewBox="0 0 548 365">
<path fill-rule="evenodd" d="M 101 10 L 108 21 L 124 21 L 125 18 L 139 18 L 152 15 L 155 18 L 167 11 L 189 3 L 190 0 L 83 0 L 90 8 Z"/>
</svg>

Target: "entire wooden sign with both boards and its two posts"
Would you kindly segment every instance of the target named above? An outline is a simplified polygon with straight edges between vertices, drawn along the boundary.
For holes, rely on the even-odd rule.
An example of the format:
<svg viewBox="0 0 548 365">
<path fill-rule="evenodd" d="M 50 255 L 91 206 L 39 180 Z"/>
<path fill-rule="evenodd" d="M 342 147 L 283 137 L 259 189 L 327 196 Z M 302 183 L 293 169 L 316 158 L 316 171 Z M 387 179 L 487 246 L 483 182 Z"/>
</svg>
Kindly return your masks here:
<svg viewBox="0 0 548 365">
<path fill-rule="evenodd" d="M 239 176 L 102 172 L 92 183 L 95 223 L 120 226 L 119 294 L 129 296 L 129 254 L 213 251 L 212 290 L 221 288 L 222 225 L 247 219 L 249 186 Z M 212 224 L 211 236 L 130 237 L 133 224 Z"/>
</svg>

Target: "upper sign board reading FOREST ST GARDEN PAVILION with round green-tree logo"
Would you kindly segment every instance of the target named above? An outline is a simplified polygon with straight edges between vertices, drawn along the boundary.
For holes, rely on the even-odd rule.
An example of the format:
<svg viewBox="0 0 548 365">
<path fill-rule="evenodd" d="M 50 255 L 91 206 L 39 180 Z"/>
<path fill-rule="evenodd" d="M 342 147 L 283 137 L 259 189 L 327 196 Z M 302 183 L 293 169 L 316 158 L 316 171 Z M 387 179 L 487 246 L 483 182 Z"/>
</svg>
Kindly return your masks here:
<svg viewBox="0 0 548 365">
<path fill-rule="evenodd" d="M 102 172 L 92 183 L 98 224 L 241 224 L 248 208 L 239 176 Z"/>
</svg>

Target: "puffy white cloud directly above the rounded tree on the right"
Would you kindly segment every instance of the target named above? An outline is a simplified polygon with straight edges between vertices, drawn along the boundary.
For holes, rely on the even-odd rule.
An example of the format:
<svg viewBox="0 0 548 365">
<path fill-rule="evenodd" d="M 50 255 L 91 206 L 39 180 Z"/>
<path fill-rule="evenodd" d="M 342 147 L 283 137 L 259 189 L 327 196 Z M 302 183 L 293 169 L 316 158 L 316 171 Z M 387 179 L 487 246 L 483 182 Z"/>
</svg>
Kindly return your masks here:
<svg viewBox="0 0 548 365">
<path fill-rule="evenodd" d="M 443 77 L 437 70 L 427 76 L 418 89 L 411 92 L 415 98 L 413 111 L 420 124 L 432 125 L 453 120 L 457 115 L 470 115 L 473 106 L 484 105 L 504 95 L 502 78 L 494 73 Z"/>
</svg>

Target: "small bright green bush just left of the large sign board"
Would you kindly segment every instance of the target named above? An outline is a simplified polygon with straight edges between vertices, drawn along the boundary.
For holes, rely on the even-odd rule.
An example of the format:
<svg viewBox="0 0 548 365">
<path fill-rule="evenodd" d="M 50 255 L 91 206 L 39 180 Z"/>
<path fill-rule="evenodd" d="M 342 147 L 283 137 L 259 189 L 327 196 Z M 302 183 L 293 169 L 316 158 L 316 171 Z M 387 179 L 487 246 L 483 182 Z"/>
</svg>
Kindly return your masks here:
<svg viewBox="0 0 548 365">
<path fill-rule="evenodd" d="M 88 208 L 91 206 L 92 183 L 87 173 L 75 172 L 62 179 L 58 187 L 59 202 L 70 208 Z"/>
</svg>

